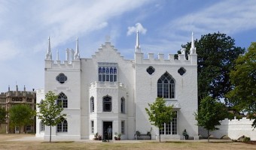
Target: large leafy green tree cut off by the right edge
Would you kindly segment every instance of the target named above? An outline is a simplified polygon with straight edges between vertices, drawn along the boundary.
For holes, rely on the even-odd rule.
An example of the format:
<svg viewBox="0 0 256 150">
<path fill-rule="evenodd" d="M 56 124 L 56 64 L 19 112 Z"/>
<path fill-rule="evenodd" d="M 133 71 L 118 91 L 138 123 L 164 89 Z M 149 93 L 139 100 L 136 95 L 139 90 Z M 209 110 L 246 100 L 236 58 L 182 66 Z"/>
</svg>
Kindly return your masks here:
<svg viewBox="0 0 256 150">
<path fill-rule="evenodd" d="M 256 127 L 256 42 L 251 43 L 248 52 L 236 59 L 235 68 L 230 72 L 234 89 L 227 98 L 238 111 L 249 113 L 254 118 L 252 127 Z"/>
</svg>

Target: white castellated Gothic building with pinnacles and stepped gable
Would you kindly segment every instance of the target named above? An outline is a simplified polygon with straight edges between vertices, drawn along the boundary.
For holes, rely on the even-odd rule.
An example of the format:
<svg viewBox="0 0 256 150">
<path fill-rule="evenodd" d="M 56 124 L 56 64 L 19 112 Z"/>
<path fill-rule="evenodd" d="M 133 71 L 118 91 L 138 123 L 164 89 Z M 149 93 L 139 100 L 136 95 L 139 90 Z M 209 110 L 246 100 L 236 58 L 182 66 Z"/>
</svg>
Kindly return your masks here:
<svg viewBox="0 0 256 150">
<path fill-rule="evenodd" d="M 66 60 L 52 59 L 49 47 L 45 58 L 44 89 L 37 90 L 37 103 L 52 91 L 62 101 L 66 120 L 52 127 L 53 139 L 93 139 L 95 133 L 103 135 L 107 127 L 122 133 L 121 139 L 134 139 L 136 131 L 151 138 L 183 139 L 182 131 L 198 138 L 197 121 L 197 53 L 192 46 L 188 60 L 184 49 L 178 59 L 174 54 L 164 59 L 163 54 L 144 53 L 136 34 L 134 60 L 126 60 L 110 42 L 99 47 L 92 58 L 80 58 L 78 39 L 75 51 L 66 49 Z M 145 107 L 157 97 L 173 105 L 176 112 L 172 122 L 158 130 L 151 125 Z M 36 136 L 49 139 L 50 127 L 37 118 Z"/>
</svg>

